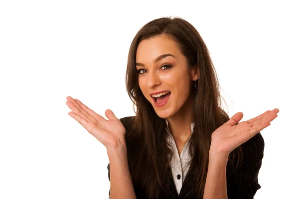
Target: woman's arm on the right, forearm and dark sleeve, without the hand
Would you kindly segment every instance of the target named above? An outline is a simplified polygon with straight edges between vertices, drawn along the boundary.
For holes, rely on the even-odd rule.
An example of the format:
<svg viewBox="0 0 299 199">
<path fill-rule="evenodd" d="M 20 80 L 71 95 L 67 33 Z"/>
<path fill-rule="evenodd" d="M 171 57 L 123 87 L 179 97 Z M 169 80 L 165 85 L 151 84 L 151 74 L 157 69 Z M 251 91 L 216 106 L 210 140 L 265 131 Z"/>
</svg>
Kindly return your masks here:
<svg viewBox="0 0 299 199">
<path fill-rule="evenodd" d="M 226 157 L 210 153 L 203 199 L 253 199 L 261 188 L 258 174 L 264 157 L 264 146 L 260 132 L 242 144 L 242 165 L 234 171 L 231 171 L 232 165 L 226 167 Z"/>
</svg>

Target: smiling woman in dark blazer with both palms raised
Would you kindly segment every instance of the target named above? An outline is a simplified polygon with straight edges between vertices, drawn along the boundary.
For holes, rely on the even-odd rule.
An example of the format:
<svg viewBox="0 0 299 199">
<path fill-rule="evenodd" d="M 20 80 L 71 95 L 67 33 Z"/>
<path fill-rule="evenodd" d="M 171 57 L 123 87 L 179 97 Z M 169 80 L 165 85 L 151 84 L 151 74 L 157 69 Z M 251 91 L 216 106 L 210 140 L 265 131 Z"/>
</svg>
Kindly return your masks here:
<svg viewBox="0 0 299 199">
<path fill-rule="evenodd" d="M 252 199 L 260 189 L 260 131 L 279 109 L 248 121 L 220 107 L 217 75 L 196 29 L 181 18 L 150 21 L 129 51 L 126 86 L 136 116 L 108 120 L 67 97 L 107 148 L 111 199 Z"/>
</svg>

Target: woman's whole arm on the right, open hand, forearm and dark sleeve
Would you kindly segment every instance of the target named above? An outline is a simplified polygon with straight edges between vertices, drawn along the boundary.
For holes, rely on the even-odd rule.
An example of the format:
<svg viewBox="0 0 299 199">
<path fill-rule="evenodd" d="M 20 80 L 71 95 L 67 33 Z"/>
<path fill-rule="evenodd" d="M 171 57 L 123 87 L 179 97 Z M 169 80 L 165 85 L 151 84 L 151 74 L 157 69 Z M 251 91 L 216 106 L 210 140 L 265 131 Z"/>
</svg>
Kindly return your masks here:
<svg viewBox="0 0 299 199">
<path fill-rule="evenodd" d="M 253 199 L 261 188 L 258 184 L 258 173 L 262 164 L 264 140 L 259 131 L 269 126 L 278 116 L 278 112 L 278 108 L 268 110 L 240 123 L 243 113 L 238 112 L 212 133 L 203 199 Z M 236 171 L 229 171 L 227 180 L 226 165 L 229 154 L 241 144 L 242 148 L 245 148 L 245 163 Z"/>
</svg>

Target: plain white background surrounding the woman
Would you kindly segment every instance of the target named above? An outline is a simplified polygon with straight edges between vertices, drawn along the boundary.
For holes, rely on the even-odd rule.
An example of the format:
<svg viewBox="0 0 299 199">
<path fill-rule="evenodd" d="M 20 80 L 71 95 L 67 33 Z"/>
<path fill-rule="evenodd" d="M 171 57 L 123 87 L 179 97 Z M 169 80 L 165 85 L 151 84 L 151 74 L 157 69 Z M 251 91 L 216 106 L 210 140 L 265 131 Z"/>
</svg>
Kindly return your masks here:
<svg viewBox="0 0 299 199">
<path fill-rule="evenodd" d="M 108 198 L 106 148 L 68 115 L 66 97 L 102 115 L 134 115 L 130 44 L 150 20 L 179 16 L 205 41 L 230 117 L 280 109 L 261 132 L 255 199 L 298 199 L 298 8 L 295 0 L 1 0 L 0 198 Z"/>
</svg>

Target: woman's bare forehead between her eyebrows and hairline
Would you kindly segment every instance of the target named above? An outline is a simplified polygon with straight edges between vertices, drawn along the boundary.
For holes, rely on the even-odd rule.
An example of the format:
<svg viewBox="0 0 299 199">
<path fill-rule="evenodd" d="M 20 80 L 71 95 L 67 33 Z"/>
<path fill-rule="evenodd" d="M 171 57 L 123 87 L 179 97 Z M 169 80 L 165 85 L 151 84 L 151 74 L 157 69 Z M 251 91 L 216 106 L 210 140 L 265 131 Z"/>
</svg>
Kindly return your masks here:
<svg viewBox="0 0 299 199">
<path fill-rule="evenodd" d="M 163 54 L 172 54 L 177 59 L 182 56 L 175 41 L 170 40 L 166 35 L 155 36 L 142 40 L 139 43 L 136 52 L 136 62 L 153 62 L 155 58 Z"/>
</svg>

